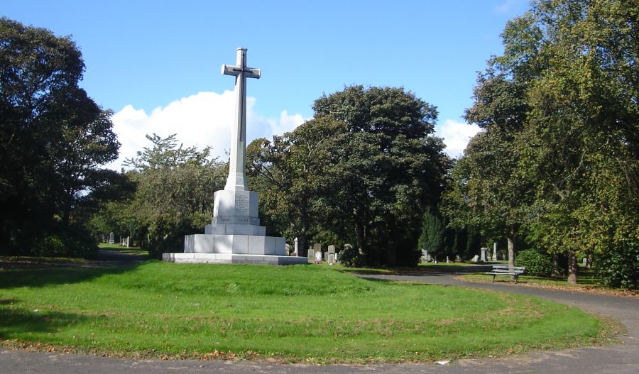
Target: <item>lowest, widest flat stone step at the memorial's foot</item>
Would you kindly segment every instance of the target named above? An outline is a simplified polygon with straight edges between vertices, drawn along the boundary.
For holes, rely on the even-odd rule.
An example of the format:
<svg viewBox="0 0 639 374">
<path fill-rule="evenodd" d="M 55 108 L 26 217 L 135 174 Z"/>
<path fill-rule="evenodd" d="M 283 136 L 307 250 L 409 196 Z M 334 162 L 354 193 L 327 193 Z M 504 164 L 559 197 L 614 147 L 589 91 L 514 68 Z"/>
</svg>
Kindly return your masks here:
<svg viewBox="0 0 639 374">
<path fill-rule="evenodd" d="M 288 255 L 240 255 L 235 253 L 162 253 L 162 260 L 171 263 L 251 263 L 261 265 L 307 264 L 305 257 Z"/>
</svg>

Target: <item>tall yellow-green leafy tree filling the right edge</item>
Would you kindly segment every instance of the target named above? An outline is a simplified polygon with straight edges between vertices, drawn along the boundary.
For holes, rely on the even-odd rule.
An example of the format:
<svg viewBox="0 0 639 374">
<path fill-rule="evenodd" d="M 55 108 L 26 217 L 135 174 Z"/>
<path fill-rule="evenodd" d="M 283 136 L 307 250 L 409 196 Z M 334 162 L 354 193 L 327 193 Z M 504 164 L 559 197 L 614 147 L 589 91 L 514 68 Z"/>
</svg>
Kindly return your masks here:
<svg viewBox="0 0 639 374">
<path fill-rule="evenodd" d="M 524 200 L 528 236 L 567 254 L 569 282 L 577 280 L 579 252 L 625 251 L 639 240 L 638 15 L 633 1 L 534 1 L 507 24 L 504 54 L 490 62 L 496 77 L 522 90 L 515 98 L 523 105 L 508 92 L 484 91 L 486 82 L 476 95 L 474 109 L 491 109 L 487 102 L 522 109 L 506 117 L 488 111 L 491 121 L 522 119 L 501 137 L 517 161 L 493 167 L 532 184 Z M 481 111 L 469 114 L 473 120 Z M 489 137 L 491 127 L 477 141 Z"/>
</svg>

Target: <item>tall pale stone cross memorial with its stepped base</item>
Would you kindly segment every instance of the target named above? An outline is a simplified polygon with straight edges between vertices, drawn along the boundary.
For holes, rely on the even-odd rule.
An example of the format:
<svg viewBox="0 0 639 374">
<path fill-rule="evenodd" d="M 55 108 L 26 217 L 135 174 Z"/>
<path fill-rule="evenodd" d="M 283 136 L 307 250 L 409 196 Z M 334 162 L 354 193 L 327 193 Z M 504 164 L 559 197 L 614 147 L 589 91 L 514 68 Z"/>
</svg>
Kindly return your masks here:
<svg viewBox="0 0 639 374">
<path fill-rule="evenodd" d="M 204 233 L 185 236 L 184 253 L 163 253 L 162 258 L 180 263 L 307 263 L 287 255 L 284 238 L 266 236 L 258 218 L 258 194 L 246 185 L 246 78 L 259 78 L 261 71 L 247 67 L 246 48 L 238 48 L 236 65 L 222 65 L 222 74 L 235 77 L 229 177 L 224 189 L 214 193 L 213 217 Z"/>
</svg>

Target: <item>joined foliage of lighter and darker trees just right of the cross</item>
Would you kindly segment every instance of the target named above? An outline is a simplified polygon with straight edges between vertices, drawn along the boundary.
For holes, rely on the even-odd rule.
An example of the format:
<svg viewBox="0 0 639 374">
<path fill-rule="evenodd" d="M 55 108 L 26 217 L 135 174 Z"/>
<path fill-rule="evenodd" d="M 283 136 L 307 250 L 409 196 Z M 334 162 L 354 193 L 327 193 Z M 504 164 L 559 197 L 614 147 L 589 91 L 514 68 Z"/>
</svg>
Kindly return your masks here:
<svg viewBox="0 0 639 374">
<path fill-rule="evenodd" d="M 422 207 L 435 206 L 449 160 L 434 106 L 403 88 L 346 87 L 315 118 L 249 145 L 265 221 L 304 253 L 312 238 L 354 243 L 369 264 L 415 264 Z"/>
</svg>

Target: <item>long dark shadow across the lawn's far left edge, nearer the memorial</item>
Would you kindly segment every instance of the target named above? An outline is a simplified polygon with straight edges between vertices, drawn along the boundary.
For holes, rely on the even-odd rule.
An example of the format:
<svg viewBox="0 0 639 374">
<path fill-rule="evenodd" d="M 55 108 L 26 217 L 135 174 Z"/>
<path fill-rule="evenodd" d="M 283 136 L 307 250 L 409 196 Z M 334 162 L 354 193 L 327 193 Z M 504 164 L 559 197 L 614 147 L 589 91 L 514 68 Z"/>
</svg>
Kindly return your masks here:
<svg viewBox="0 0 639 374">
<path fill-rule="evenodd" d="M 13 287 L 45 287 L 84 282 L 107 274 L 122 274 L 135 270 L 140 263 L 101 268 L 4 268 L 0 271 L 0 290 Z M 1 319 L 0 319 L 1 320 Z"/>
</svg>

